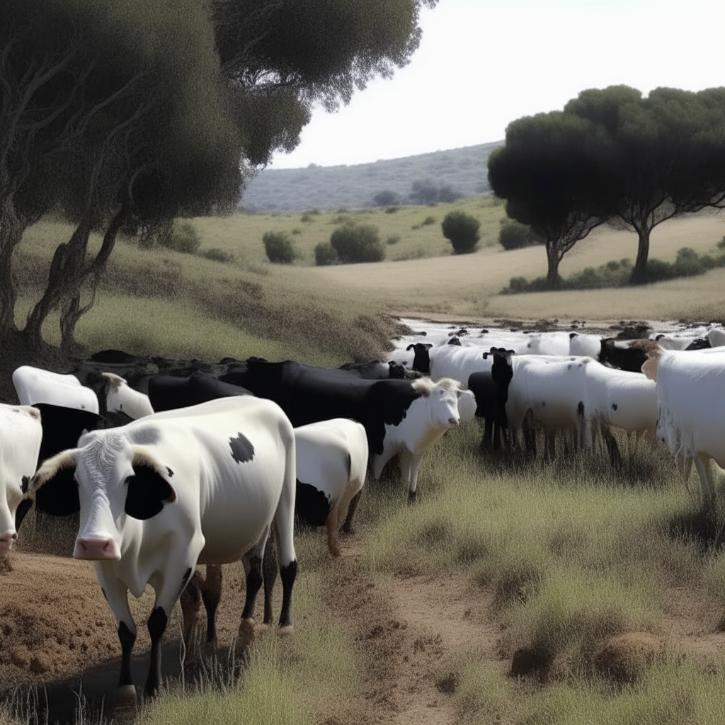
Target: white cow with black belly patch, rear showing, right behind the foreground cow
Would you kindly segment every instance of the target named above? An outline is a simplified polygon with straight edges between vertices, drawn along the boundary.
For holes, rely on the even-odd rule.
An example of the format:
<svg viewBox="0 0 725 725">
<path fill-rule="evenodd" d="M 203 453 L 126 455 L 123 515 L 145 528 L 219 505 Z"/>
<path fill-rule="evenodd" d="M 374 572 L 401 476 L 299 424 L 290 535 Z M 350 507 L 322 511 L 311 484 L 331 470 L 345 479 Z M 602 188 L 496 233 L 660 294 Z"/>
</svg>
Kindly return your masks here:
<svg viewBox="0 0 725 725">
<path fill-rule="evenodd" d="M 297 515 L 327 526 L 330 553 L 339 556 L 337 534 L 352 526 L 368 470 L 368 436 L 348 418 L 310 423 L 294 429 L 297 442 Z"/>
</svg>

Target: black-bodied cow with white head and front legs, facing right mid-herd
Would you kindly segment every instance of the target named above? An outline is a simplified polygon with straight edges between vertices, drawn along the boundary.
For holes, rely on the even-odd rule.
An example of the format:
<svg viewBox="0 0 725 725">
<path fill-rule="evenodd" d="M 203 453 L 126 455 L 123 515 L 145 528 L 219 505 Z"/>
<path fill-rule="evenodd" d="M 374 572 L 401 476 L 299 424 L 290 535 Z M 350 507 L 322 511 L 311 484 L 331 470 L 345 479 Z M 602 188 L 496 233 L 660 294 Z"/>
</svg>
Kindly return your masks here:
<svg viewBox="0 0 725 725">
<path fill-rule="evenodd" d="M 457 381 L 363 380 L 345 370 L 310 368 L 290 360 L 250 358 L 246 370 L 240 366 L 224 379 L 277 402 L 295 427 L 329 418 L 363 423 L 373 476 L 378 479 L 384 465 L 399 455 L 410 497 L 415 496 L 423 454 L 459 425 L 459 399 L 470 407 L 474 402 L 473 394 Z"/>
</svg>

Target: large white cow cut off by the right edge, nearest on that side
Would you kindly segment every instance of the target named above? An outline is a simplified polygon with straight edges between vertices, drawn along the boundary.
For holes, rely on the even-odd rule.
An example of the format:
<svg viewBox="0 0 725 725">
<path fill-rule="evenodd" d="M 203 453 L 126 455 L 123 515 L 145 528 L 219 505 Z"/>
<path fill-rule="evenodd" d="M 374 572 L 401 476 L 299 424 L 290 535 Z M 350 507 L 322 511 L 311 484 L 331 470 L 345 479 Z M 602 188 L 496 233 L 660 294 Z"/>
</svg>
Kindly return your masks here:
<svg viewBox="0 0 725 725">
<path fill-rule="evenodd" d="M 655 352 L 642 372 L 657 383 L 657 435 L 673 455 L 695 459 L 703 508 L 712 508 L 710 462 L 725 468 L 725 351 Z"/>
</svg>

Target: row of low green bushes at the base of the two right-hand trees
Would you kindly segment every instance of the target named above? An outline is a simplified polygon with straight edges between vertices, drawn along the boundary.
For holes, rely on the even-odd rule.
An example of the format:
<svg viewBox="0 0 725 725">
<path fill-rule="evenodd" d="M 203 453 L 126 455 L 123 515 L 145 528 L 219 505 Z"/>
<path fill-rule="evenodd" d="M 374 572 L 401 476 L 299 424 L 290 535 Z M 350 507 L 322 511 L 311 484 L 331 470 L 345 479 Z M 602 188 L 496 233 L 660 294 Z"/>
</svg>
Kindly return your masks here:
<svg viewBox="0 0 725 725">
<path fill-rule="evenodd" d="M 682 247 L 674 262 L 650 259 L 647 261 L 647 283 L 662 282 L 668 279 L 693 277 L 708 270 L 725 267 L 725 254 L 713 257 L 711 254 L 697 254 L 694 249 Z M 587 267 L 561 281 L 560 289 L 604 289 L 626 287 L 631 284 L 631 260 L 607 262 L 600 267 Z M 541 292 L 548 289 L 547 279 L 537 277 L 530 282 L 525 277 L 512 277 L 509 286 L 501 294 L 521 292 Z"/>
</svg>

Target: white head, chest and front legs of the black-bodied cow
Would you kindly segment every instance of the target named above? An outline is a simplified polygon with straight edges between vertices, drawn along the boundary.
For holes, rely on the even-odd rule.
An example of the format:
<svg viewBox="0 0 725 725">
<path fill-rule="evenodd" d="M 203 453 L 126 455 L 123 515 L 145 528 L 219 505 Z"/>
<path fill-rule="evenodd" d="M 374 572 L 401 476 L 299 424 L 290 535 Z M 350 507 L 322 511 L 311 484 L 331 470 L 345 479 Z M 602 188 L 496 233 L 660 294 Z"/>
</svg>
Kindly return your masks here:
<svg viewBox="0 0 725 725">
<path fill-rule="evenodd" d="M 422 393 L 410 404 L 397 425 L 385 425 L 383 453 L 373 455 L 373 476 L 380 478 L 388 461 L 399 455 L 403 481 L 408 482 L 408 492 L 414 495 L 418 486 L 418 468 L 426 450 L 447 430 L 460 425 L 458 406 L 476 408 L 476 398 L 470 390 L 464 390 L 456 380 L 443 378 L 437 382 L 430 378 L 413 381 L 413 389 Z"/>
</svg>

